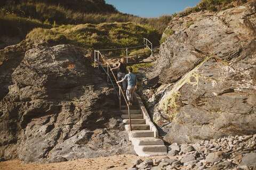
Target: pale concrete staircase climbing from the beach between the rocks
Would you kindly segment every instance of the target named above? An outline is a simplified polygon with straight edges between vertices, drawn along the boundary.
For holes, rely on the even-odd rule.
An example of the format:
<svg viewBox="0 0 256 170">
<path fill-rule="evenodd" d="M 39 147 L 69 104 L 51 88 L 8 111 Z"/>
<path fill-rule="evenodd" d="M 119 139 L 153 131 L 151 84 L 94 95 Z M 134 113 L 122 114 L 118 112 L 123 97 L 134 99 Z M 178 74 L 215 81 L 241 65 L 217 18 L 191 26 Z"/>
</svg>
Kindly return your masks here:
<svg viewBox="0 0 256 170">
<path fill-rule="evenodd" d="M 158 139 L 158 132 L 147 123 L 149 120 L 143 113 L 140 103 L 130 108 L 132 131 L 127 106 L 122 106 L 122 118 L 125 130 L 129 133 L 133 148 L 138 156 L 160 156 L 167 154 L 167 148 L 162 139 Z M 126 109 L 125 109 L 126 108 Z"/>
</svg>

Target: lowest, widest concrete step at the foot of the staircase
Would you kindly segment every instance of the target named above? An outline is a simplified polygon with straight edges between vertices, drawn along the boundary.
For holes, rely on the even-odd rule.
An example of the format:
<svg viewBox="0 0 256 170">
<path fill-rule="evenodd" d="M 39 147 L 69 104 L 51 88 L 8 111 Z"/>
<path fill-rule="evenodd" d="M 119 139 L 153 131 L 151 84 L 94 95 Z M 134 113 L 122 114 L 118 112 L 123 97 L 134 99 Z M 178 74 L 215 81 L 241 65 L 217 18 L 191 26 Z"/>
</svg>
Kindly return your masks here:
<svg viewBox="0 0 256 170">
<path fill-rule="evenodd" d="M 167 154 L 165 145 L 134 145 L 134 150 L 138 156 L 159 156 Z"/>
</svg>

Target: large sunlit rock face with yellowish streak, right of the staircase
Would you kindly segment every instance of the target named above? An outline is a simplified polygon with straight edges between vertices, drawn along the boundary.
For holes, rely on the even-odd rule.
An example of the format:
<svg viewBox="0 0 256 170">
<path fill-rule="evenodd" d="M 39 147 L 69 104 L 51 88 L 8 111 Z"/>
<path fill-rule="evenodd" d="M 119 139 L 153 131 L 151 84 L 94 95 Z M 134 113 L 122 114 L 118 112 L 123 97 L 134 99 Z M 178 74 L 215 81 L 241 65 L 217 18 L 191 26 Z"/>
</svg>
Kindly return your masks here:
<svg viewBox="0 0 256 170">
<path fill-rule="evenodd" d="M 255 2 L 171 22 L 143 91 L 166 142 L 256 132 L 255 25 Z"/>
</svg>

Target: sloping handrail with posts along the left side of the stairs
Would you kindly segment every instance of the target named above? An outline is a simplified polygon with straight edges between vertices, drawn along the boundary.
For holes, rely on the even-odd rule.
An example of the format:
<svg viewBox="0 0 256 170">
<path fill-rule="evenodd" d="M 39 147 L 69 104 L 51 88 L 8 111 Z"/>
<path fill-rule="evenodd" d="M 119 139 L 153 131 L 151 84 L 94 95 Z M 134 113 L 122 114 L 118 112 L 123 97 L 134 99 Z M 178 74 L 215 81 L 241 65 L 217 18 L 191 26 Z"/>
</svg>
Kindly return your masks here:
<svg viewBox="0 0 256 170">
<path fill-rule="evenodd" d="M 105 62 L 107 64 L 107 76 L 108 76 L 108 79 L 111 80 L 111 77 L 109 75 L 109 70 L 111 71 L 115 81 L 117 82 L 117 79 L 116 79 L 116 76 L 114 74 L 114 72 L 111 70 L 111 67 L 110 67 L 110 64 L 106 61 L 105 57 L 100 53 L 99 50 L 94 50 L 94 56 L 96 56 L 96 53 L 97 53 L 97 61 L 95 61 L 94 59 L 94 66 L 95 66 L 95 63 L 98 62 L 98 64 L 100 65 L 100 61 L 99 61 L 99 57 L 102 58 L 102 61 Z M 120 110 L 122 110 L 122 106 L 121 106 L 121 94 L 123 95 L 123 98 L 124 98 L 124 101 L 127 105 L 127 108 L 128 108 L 128 116 L 129 116 L 129 122 L 130 122 L 130 129 L 132 131 L 132 122 L 131 122 L 131 115 L 130 115 L 130 106 L 129 106 L 129 103 L 127 102 L 126 98 L 125 98 L 125 95 L 124 95 L 124 92 L 122 90 L 122 87 L 117 83 L 117 86 L 119 87 L 119 107 L 120 107 Z M 114 84 L 113 84 L 113 87 L 114 87 Z M 114 87 L 115 88 L 115 87 Z"/>
</svg>

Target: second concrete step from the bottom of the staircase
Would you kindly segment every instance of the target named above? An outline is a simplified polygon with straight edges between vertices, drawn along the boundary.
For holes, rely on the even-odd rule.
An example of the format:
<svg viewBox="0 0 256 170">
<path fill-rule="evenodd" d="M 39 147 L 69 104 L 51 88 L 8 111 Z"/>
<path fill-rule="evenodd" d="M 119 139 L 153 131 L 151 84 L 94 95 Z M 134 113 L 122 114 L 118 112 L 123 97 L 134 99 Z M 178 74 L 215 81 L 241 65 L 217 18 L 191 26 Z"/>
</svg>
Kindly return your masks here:
<svg viewBox="0 0 256 170">
<path fill-rule="evenodd" d="M 145 137 L 145 138 L 132 138 L 132 144 L 135 145 L 164 145 L 164 141 L 162 139 L 157 139 L 153 137 Z"/>
</svg>

